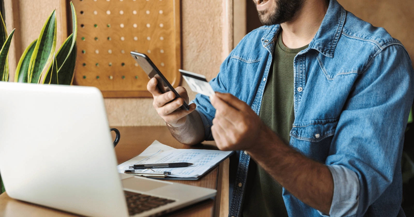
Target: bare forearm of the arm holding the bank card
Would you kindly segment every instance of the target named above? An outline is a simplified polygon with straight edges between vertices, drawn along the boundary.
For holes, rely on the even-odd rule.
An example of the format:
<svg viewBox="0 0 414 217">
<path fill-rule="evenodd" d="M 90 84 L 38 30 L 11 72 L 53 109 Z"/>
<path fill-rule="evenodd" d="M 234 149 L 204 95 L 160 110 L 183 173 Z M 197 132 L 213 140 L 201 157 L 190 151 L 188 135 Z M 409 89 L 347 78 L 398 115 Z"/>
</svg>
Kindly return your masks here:
<svg viewBox="0 0 414 217">
<path fill-rule="evenodd" d="M 259 138 L 257 146 L 247 150 L 250 156 L 296 198 L 328 214 L 334 183 L 327 166 L 285 145 L 269 128 Z"/>
</svg>

